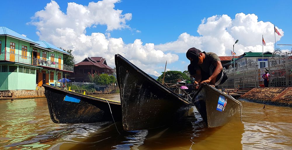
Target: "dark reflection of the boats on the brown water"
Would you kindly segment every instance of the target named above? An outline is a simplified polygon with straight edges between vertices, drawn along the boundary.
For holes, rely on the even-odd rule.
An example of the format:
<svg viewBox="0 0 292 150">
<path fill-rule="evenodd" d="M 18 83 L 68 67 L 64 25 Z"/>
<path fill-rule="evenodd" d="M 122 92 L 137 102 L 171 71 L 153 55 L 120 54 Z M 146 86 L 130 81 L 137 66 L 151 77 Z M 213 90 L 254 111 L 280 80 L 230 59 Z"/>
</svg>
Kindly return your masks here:
<svg viewBox="0 0 292 150">
<path fill-rule="evenodd" d="M 207 128 L 196 108 L 189 113 L 193 117 L 182 118 L 172 126 L 152 130 L 123 131 L 121 122 L 118 122 L 118 129 L 112 124 L 88 134 L 87 138 L 66 138 L 65 142 L 55 144 L 51 149 L 242 149 L 244 126 L 240 117 L 222 127 Z"/>
</svg>

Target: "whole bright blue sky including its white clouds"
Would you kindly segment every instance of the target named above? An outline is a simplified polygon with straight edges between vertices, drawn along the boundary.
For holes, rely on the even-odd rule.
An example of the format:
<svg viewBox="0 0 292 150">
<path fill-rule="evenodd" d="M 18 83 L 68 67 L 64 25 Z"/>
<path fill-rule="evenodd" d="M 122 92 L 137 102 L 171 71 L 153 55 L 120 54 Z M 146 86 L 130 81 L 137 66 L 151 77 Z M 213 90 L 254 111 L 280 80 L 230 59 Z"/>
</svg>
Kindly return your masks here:
<svg viewBox="0 0 292 150">
<path fill-rule="evenodd" d="M 273 51 L 272 24 L 284 35 L 276 35 L 277 44 L 292 44 L 292 1 L 104 0 L 93 1 L 88 7 L 90 2 L 1 1 L 5 13 L 0 26 L 33 40 L 73 49 L 77 61 L 103 56 L 113 68 L 113 56 L 120 53 L 157 76 L 164 71 L 166 60 L 168 70 L 187 70 L 185 51 L 191 47 L 230 56 L 239 39 L 235 46 L 238 55 L 260 52 L 263 35 L 267 43 L 264 51 Z"/>
</svg>

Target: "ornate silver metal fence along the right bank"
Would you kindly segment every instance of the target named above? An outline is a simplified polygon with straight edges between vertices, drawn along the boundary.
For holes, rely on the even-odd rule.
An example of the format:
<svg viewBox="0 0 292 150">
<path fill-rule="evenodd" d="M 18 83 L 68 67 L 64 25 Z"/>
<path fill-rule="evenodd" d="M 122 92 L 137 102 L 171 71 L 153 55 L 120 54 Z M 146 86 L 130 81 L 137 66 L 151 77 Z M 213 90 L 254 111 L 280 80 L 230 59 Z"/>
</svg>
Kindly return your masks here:
<svg viewBox="0 0 292 150">
<path fill-rule="evenodd" d="M 228 79 L 218 88 L 248 88 L 259 87 L 261 79 L 260 69 L 257 61 L 248 60 L 246 65 L 237 65 L 236 68 L 223 68 Z M 268 58 L 270 87 L 292 86 L 292 53 L 282 53 L 280 50 L 274 51 L 272 57 Z"/>
</svg>

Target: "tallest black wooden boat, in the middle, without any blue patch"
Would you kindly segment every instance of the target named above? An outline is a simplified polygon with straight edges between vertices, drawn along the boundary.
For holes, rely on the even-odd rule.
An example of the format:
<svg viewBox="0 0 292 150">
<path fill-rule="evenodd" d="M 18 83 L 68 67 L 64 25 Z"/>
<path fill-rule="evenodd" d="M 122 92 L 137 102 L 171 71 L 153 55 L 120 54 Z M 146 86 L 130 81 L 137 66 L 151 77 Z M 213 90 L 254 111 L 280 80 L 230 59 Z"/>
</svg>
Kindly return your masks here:
<svg viewBox="0 0 292 150">
<path fill-rule="evenodd" d="M 153 129 L 186 116 L 190 102 L 115 55 L 124 130 Z"/>
</svg>

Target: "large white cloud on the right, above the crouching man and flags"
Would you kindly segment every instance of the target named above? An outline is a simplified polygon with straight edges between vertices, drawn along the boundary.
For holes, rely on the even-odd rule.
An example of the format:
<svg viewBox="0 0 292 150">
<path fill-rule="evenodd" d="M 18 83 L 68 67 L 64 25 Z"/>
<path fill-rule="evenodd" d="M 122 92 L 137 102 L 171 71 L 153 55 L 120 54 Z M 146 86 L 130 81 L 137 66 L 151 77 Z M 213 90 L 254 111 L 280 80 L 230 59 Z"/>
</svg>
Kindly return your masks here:
<svg viewBox="0 0 292 150">
<path fill-rule="evenodd" d="M 278 28 L 279 29 L 279 28 Z M 234 19 L 228 15 L 214 15 L 203 19 L 198 27 L 199 37 L 182 33 L 176 41 L 154 46 L 161 51 L 185 53 L 189 48 L 196 47 L 203 51 L 215 52 L 220 56 L 230 56 L 234 49 L 238 55 L 248 51 L 262 50 L 262 35 L 266 46 L 264 51 L 274 50 L 274 25 L 270 22 L 258 21 L 255 14 L 238 13 Z M 284 32 L 279 29 L 284 35 Z M 276 41 L 281 39 L 276 35 Z"/>
</svg>

